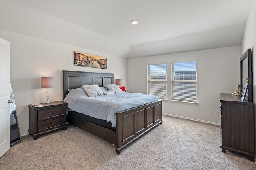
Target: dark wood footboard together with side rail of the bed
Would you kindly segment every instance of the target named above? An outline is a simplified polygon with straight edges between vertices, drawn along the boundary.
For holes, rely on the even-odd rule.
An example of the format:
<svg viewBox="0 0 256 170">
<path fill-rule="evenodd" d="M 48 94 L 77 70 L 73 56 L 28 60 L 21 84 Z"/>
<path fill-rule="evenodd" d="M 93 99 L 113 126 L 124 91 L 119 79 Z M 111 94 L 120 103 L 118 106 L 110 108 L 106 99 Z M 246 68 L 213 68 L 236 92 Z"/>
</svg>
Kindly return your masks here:
<svg viewBox="0 0 256 170">
<path fill-rule="evenodd" d="M 116 153 L 162 123 L 162 100 L 116 113 L 116 132 L 74 115 L 67 122 L 116 146 Z"/>
</svg>

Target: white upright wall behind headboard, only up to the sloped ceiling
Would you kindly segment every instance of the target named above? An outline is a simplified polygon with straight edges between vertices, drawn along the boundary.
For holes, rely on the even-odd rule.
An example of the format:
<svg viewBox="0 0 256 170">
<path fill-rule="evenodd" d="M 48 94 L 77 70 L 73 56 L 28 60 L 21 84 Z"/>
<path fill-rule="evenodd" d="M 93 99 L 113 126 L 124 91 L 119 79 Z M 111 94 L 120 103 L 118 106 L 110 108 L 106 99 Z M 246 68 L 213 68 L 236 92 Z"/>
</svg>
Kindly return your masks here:
<svg viewBox="0 0 256 170">
<path fill-rule="evenodd" d="M 17 107 L 20 132 L 28 132 L 28 104 L 46 101 L 46 89 L 41 89 L 41 77 L 54 77 L 54 88 L 49 89 L 50 101 L 63 99 L 62 70 L 114 73 L 126 84 L 126 59 L 52 42 L 0 29 L 0 37 L 11 44 L 11 82 Z M 108 69 L 74 66 L 74 51 L 81 51 L 108 59 Z"/>
</svg>

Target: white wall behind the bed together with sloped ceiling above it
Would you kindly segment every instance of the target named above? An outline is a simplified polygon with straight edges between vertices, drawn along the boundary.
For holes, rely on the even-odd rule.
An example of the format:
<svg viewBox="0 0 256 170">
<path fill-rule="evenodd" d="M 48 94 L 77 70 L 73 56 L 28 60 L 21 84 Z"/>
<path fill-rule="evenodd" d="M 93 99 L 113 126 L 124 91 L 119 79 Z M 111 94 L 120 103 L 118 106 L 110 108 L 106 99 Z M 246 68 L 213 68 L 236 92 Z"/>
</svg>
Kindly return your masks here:
<svg viewBox="0 0 256 170">
<path fill-rule="evenodd" d="M 46 101 L 41 77 L 54 77 L 50 101 L 63 99 L 62 70 L 114 73 L 126 85 L 130 46 L 13 0 L 0 1 L 0 37 L 11 45 L 11 81 L 20 132 L 28 133 L 28 104 Z M 107 57 L 108 69 L 74 66 L 74 51 Z"/>
</svg>

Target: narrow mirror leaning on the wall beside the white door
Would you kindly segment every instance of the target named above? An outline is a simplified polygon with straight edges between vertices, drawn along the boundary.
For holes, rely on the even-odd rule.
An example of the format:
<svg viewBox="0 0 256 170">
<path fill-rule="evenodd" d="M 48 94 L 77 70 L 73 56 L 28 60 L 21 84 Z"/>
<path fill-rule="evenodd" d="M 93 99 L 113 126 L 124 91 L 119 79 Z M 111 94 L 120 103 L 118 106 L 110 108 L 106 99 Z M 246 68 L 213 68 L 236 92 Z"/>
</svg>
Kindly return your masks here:
<svg viewBox="0 0 256 170">
<path fill-rule="evenodd" d="M 12 91 L 11 83 L 11 92 L 10 92 L 10 113 L 11 113 L 11 147 L 21 142 L 20 128 L 18 123 L 18 116 L 16 110 L 16 104 L 14 100 L 14 95 Z"/>
</svg>

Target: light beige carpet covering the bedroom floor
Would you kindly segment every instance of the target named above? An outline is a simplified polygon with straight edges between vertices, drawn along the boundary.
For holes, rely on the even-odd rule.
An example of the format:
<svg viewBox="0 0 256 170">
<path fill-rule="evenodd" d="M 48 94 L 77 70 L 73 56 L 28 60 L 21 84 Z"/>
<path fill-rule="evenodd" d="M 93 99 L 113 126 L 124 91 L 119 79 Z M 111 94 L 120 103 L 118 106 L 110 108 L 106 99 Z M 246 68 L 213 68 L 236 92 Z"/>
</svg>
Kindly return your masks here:
<svg viewBox="0 0 256 170">
<path fill-rule="evenodd" d="M 23 136 L 0 158 L 1 170 L 256 170 L 246 156 L 220 148 L 220 126 L 163 115 L 164 122 L 126 147 L 69 125 L 67 130 Z"/>
</svg>

